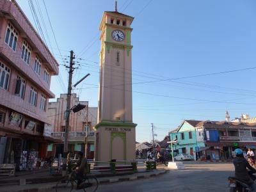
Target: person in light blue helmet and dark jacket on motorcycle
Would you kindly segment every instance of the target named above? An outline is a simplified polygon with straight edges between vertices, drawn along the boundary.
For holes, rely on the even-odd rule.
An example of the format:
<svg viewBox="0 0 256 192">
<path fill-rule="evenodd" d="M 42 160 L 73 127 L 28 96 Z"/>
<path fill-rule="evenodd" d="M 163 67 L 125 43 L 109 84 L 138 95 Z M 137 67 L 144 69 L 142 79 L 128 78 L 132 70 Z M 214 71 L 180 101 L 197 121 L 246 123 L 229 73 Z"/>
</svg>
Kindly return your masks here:
<svg viewBox="0 0 256 192">
<path fill-rule="evenodd" d="M 252 180 L 249 175 L 247 168 L 250 173 L 256 173 L 256 170 L 250 166 L 248 161 L 243 156 L 243 151 L 240 148 L 235 150 L 236 157 L 233 159 L 233 164 L 235 166 L 235 177 L 248 184 L 253 192 L 256 192 L 256 183 Z"/>
</svg>

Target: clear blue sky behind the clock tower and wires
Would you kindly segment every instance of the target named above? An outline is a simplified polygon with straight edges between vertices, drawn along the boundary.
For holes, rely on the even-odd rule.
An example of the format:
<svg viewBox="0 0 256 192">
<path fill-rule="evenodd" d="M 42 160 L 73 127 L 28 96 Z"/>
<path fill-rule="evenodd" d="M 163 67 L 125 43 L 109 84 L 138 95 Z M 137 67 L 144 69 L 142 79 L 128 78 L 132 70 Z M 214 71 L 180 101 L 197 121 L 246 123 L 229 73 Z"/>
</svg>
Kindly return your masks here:
<svg viewBox="0 0 256 192">
<path fill-rule="evenodd" d="M 33 2 L 36 12 L 36 2 L 42 10 L 51 50 L 59 63 L 68 61 L 71 49 L 77 58 L 83 58 L 77 60 L 83 66 L 77 65 L 74 82 L 87 73 L 91 76 L 74 93 L 80 100 L 88 100 L 90 106 L 97 106 L 98 89 L 94 85 L 99 81 L 99 24 L 104 11 L 115 10 L 115 1 L 45 0 L 64 60 L 54 43 L 44 2 Z M 28 1 L 18 3 L 35 25 Z M 132 95 L 133 121 L 138 124 L 136 140 L 152 140 L 151 123 L 157 140 L 162 140 L 183 119 L 225 120 L 226 110 L 231 118 L 241 113 L 256 116 L 256 69 L 190 77 L 256 67 L 255 6 L 253 0 L 118 1 L 119 12 L 135 17 Z M 60 74 L 51 83 L 56 97 L 67 92 L 67 70 L 62 65 Z M 179 77 L 184 78 L 147 83 Z"/>
</svg>

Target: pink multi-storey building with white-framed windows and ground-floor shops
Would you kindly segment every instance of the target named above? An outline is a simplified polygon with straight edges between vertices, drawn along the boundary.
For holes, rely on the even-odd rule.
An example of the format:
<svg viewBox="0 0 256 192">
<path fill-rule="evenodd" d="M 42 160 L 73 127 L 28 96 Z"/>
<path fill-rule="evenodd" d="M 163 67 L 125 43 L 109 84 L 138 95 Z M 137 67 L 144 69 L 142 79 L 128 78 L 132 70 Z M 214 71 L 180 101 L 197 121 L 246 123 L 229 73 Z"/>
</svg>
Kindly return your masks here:
<svg viewBox="0 0 256 192">
<path fill-rule="evenodd" d="M 58 63 L 15 1 L 0 0 L 0 164 L 22 150 L 44 157 L 49 141 L 47 101 Z M 47 134 L 48 132 L 48 134 Z M 11 157 L 12 156 L 12 157 Z"/>
</svg>

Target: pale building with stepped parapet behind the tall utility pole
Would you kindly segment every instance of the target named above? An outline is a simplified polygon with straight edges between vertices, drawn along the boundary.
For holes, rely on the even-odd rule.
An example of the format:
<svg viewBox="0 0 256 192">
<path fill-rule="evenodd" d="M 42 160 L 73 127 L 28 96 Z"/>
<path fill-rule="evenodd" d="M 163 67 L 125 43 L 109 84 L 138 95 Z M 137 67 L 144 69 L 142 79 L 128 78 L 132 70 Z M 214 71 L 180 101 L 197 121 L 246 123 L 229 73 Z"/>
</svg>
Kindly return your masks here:
<svg viewBox="0 0 256 192">
<path fill-rule="evenodd" d="M 86 106 L 83 110 L 77 113 L 70 113 L 70 125 L 68 130 L 68 151 L 72 154 L 83 151 L 87 148 L 86 155 L 88 159 L 94 157 L 94 140 L 95 132 L 93 127 L 97 124 L 98 108 L 88 108 L 88 101 L 79 101 L 76 93 L 71 95 L 71 106 L 77 104 Z M 65 111 L 67 109 L 67 94 L 61 94 L 56 102 L 49 102 L 48 117 L 52 125 L 52 137 L 64 141 L 65 135 Z M 87 127 L 87 147 L 85 146 Z M 63 154 L 63 143 L 49 144 L 48 156 L 58 156 Z"/>
</svg>

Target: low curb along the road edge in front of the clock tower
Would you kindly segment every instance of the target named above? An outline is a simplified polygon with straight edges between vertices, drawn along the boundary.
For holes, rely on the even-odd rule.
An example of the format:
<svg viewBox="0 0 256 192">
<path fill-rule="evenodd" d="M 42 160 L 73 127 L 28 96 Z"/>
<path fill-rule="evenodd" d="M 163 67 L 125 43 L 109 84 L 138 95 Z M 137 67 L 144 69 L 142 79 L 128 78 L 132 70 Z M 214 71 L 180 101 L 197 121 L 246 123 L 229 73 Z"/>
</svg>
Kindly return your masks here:
<svg viewBox="0 0 256 192">
<path fill-rule="evenodd" d="M 148 175 L 138 175 L 138 176 L 132 175 L 131 177 L 99 180 L 99 184 L 111 184 L 111 183 L 115 183 L 115 182 L 122 182 L 122 181 L 129 181 L 129 180 L 148 179 L 150 177 L 156 177 L 157 175 L 163 175 L 166 172 L 168 172 L 168 170 L 162 170 L 162 171 L 159 171 L 158 173 L 152 173 L 152 174 L 148 174 Z M 21 189 L 21 190 L 13 191 L 13 192 L 47 192 L 47 191 L 55 189 L 55 188 L 56 188 L 55 186 L 51 186 L 48 188 Z M 10 192 L 10 190 L 3 191 L 3 192 Z"/>
</svg>

